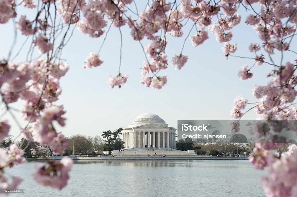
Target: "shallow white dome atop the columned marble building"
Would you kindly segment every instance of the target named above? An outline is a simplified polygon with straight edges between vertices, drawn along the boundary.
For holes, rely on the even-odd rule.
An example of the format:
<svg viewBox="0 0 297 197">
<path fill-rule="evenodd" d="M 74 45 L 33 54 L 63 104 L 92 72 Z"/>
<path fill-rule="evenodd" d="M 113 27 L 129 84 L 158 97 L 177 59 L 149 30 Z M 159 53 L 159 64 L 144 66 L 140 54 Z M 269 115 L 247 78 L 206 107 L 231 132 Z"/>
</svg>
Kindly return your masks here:
<svg viewBox="0 0 297 197">
<path fill-rule="evenodd" d="M 140 125 L 150 124 L 150 123 L 159 124 L 162 126 L 168 126 L 168 124 L 166 124 L 165 121 L 162 118 L 160 118 L 160 116 L 158 116 L 157 114 L 143 113 L 137 116 L 136 118 L 134 118 L 134 120 L 129 124 L 129 127 L 140 126 Z"/>
</svg>

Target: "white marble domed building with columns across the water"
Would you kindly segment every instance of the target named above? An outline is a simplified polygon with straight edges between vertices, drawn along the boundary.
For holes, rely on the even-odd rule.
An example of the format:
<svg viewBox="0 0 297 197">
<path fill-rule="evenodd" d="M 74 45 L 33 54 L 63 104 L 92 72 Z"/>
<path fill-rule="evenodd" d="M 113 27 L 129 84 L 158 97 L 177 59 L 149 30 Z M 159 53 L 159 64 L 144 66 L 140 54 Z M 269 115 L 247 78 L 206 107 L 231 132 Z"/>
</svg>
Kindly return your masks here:
<svg viewBox="0 0 297 197">
<path fill-rule="evenodd" d="M 175 148 L 175 131 L 156 114 L 143 113 L 121 133 L 125 148 Z"/>
</svg>

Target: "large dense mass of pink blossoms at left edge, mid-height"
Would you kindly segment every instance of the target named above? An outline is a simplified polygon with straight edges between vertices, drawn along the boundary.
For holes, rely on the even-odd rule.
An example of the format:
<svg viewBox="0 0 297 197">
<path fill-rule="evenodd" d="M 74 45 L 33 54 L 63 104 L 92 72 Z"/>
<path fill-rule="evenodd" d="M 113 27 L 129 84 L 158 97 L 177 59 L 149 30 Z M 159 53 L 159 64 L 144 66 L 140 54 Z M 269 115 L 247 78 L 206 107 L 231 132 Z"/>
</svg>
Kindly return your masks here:
<svg viewBox="0 0 297 197">
<path fill-rule="evenodd" d="M 24 100 L 26 105 L 20 111 L 32 126 L 23 129 L 23 136 L 41 145 L 50 145 L 56 154 L 63 153 L 67 147 L 66 139 L 56 132 L 53 122 L 65 125 L 63 105 L 52 103 L 61 94 L 59 79 L 65 75 L 67 63 L 50 63 L 44 58 L 32 62 L 2 62 L 0 87 L 5 103 Z M 9 125 L 0 124 L 1 140 L 7 136 Z"/>
</svg>

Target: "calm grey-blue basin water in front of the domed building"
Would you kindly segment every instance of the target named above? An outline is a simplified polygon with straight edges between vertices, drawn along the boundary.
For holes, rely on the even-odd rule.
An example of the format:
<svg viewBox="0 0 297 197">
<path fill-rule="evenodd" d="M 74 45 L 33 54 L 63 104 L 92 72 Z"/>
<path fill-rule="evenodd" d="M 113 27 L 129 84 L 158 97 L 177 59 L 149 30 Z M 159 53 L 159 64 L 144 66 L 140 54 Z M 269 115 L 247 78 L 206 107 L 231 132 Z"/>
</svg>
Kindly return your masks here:
<svg viewBox="0 0 297 197">
<path fill-rule="evenodd" d="M 24 177 L 23 194 L 10 196 L 201 196 L 264 197 L 260 177 L 247 160 L 233 161 L 78 161 L 72 167 L 68 185 L 62 190 L 37 185 L 28 162 L 6 170 Z"/>
</svg>

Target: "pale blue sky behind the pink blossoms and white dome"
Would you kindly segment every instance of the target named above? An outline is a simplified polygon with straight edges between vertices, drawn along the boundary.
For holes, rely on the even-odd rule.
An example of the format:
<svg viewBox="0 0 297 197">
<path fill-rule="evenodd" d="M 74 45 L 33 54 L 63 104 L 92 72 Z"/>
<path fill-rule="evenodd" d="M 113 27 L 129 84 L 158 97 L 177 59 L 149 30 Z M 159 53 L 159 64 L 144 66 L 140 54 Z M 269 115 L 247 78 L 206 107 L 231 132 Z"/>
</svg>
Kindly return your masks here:
<svg viewBox="0 0 297 197">
<path fill-rule="evenodd" d="M 140 5 L 138 10 L 141 10 L 141 6 L 144 5 Z M 237 43 L 238 49 L 234 55 L 254 57 L 249 53 L 248 46 L 251 42 L 260 43 L 260 39 L 252 26 L 244 23 L 248 15 L 245 9 L 240 11 L 241 22 L 232 29 L 233 39 L 230 43 Z M 15 21 L 24 14 L 33 18 L 35 13 L 30 9 L 19 8 Z M 140 69 L 145 60 L 140 44 L 132 39 L 127 25 L 121 30 L 123 33 L 121 73 L 127 73 L 129 78 L 120 89 L 118 87 L 111 89 L 108 85 L 109 75 L 116 76 L 118 73 L 119 29 L 114 27 L 110 29 L 99 53 L 104 63 L 96 68 L 84 69 L 82 66 L 89 52 L 99 50 L 105 34 L 99 38 L 91 38 L 74 30 L 71 40 L 64 47 L 62 58 L 67 60 L 70 69 L 60 80 L 62 93 L 55 104 L 63 104 L 67 111 L 64 115 L 67 118 L 66 126 L 58 127 L 58 131 L 66 137 L 73 134 L 101 135 L 103 131 L 113 131 L 128 126 L 136 116 L 146 112 L 157 114 L 171 127 L 177 127 L 177 120 L 229 120 L 234 98 L 242 95 L 249 102 L 255 102 L 256 99 L 252 96 L 253 87 L 255 84 L 266 85 L 268 82 L 266 75 L 273 69 L 267 64 L 256 65 L 252 70 L 254 76 L 251 79 L 240 80 L 237 77 L 240 67 L 244 64 L 252 65 L 254 60 L 236 57 L 225 60 L 225 54 L 221 49 L 223 43 L 217 42 L 215 36 L 208 32 L 209 39 L 198 47 L 193 47 L 190 40 L 186 40 L 183 55 L 188 56 L 188 62 L 181 70 L 175 70 L 170 60 L 175 54 L 180 54 L 185 36 L 190 30 L 188 25 L 184 29 L 183 37 L 167 36 L 166 54 L 169 65 L 165 71 L 160 72 L 160 75 L 167 73 L 168 81 L 162 89 L 151 89 L 140 84 Z M 195 33 L 193 30 L 190 35 Z M 7 58 L 13 36 L 12 20 L 0 24 L 1 59 Z M 18 31 L 12 56 L 17 53 L 25 39 L 26 37 Z M 30 39 L 15 58 L 15 62 L 26 60 Z M 146 45 L 149 41 L 145 38 L 142 43 Z M 38 56 L 38 52 L 34 53 L 34 57 Z M 290 56 L 286 56 L 285 60 L 286 58 L 292 59 Z M 23 104 L 17 102 L 12 106 L 18 108 Z M 4 109 L 1 109 L 0 113 L 3 112 Z M 20 113 L 16 112 L 15 115 L 22 124 L 26 123 L 22 121 Z M 253 110 L 243 117 L 244 120 L 255 118 Z M 12 118 L 7 114 L 2 119 L 10 121 L 12 124 L 10 134 L 16 136 L 19 129 Z"/>
</svg>

